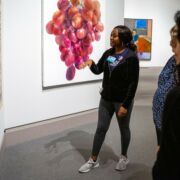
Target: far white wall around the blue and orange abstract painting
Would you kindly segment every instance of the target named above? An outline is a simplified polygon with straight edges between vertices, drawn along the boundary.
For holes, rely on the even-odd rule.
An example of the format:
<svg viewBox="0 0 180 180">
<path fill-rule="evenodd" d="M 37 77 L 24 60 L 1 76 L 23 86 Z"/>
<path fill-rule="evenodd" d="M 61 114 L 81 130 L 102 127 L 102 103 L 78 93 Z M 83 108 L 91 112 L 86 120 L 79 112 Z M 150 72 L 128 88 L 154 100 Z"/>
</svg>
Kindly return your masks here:
<svg viewBox="0 0 180 180">
<path fill-rule="evenodd" d="M 172 55 L 169 30 L 174 25 L 174 13 L 180 9 L 179 0 L 125 0 L 124 17 L 152 19 L 151 61 L 141 61 L 141 67 L 164 66 Z"/>
</svg>

